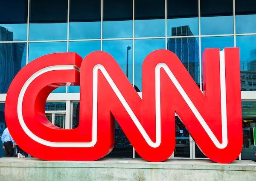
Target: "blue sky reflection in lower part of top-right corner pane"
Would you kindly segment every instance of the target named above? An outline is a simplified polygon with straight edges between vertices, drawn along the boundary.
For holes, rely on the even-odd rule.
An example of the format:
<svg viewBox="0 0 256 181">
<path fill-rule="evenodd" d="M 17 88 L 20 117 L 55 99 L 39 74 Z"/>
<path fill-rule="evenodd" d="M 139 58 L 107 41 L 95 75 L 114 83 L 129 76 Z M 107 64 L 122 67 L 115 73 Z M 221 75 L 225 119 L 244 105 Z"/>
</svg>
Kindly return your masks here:
<svg viewBox="0 0 256 181">
<path fill-rule="evenodd" d="M 236 15 L 236 33 L 256 33 L 256 14 Z"/>
</svg>

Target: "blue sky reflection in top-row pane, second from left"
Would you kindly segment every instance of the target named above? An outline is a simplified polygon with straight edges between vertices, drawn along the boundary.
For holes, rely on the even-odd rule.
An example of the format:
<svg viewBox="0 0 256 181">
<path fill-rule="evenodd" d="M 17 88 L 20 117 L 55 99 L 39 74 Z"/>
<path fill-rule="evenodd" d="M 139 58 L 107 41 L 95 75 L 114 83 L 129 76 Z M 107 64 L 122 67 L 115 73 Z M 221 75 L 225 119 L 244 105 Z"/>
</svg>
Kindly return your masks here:
<svg viewBox="0 0 256 181">
<path fill-rule="evenodd" d="M 30 23 L 29 40 L 66 40 L 67 23 Z"/>
</svg>

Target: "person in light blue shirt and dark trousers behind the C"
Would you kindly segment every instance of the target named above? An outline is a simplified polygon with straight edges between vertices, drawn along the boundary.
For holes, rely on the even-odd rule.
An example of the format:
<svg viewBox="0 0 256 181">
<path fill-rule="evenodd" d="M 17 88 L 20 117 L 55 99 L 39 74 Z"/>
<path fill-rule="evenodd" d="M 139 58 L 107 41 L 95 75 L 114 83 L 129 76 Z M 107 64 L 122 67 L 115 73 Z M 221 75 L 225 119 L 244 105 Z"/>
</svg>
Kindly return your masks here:
<svg viewBox="0 0 256 181">
<path fill-rule="evenodd" d="M 3 143 L 3 149 L 5 149 L 6 157 L 13 157 L 15 142 L 12 139 L 8 128 L 3 131 L 1 140 Z"/>
</svg>

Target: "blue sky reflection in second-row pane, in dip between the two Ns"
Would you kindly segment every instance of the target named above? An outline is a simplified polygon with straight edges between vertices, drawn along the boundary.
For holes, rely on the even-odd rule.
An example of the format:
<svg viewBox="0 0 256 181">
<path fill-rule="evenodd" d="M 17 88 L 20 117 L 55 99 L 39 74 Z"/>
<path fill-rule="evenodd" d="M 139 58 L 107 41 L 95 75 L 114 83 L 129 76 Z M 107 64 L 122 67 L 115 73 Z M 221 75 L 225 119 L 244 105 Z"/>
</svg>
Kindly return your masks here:
<svg viewBox="0 0 256 181">
<path fill-rule="evenodd" d="M 165 39 L 135 40 L 134 46 L 134 81 L 135 85 L 142 91 L 142 63 L 150 52 L 157 49 L 165 49 Z"/>
</svg>

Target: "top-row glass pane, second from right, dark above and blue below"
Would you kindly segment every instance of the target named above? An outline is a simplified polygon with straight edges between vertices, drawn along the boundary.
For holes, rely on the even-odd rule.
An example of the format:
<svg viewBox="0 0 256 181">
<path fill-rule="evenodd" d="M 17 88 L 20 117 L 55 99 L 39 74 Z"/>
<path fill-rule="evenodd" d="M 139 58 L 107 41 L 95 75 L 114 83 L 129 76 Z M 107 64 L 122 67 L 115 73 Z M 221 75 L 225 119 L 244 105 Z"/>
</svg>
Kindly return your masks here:
<svg viewBox="0 0 256 181">
<path fill-rule="evenodd" d="M 201 34 L 233 34 L 233 0 L 201 0 Z"/>
</svg>

